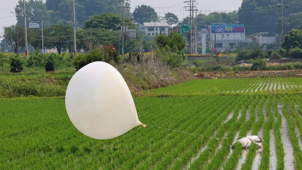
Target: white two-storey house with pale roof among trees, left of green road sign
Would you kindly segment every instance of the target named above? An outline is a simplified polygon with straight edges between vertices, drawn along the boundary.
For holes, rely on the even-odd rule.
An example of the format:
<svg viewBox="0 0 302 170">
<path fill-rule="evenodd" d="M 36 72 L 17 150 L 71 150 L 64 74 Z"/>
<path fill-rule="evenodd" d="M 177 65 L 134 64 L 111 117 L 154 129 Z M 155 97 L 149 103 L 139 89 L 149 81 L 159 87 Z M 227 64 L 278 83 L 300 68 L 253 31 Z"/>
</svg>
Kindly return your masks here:
<svg viewBox="0 0 302 170">
<path fill-rule="evenodd" d="M 138 24 L 138 27 L 144 34 L 155 36 L 160 34 L 160 32 L 163 35 L 167 35 L 170 25 L 166 22 L 144 22 L 143 25 Z"/>
</svg>

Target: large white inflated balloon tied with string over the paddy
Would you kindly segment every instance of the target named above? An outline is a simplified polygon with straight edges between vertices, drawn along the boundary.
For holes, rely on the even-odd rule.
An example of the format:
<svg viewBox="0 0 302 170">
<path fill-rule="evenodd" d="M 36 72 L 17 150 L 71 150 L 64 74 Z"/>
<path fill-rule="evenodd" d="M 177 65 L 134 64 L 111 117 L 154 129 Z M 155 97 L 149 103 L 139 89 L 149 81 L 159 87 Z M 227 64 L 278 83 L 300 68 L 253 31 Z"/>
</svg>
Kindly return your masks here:
<svg viewBox="0 0 302 170">
<path fill-rule="evenodd" d="M 101 61 L 86 65 L 71 78 L 65 105 L 73 125 L 95 139 L 111 139 L 143 125 L 124 78 Z"/>
</svg>

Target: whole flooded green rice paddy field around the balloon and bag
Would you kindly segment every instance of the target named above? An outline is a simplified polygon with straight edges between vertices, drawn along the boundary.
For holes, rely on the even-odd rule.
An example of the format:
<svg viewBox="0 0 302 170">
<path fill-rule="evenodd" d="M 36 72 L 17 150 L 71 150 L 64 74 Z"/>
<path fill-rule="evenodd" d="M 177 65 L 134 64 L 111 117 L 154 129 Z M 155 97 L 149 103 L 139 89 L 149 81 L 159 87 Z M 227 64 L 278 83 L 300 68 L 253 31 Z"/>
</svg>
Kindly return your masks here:
<svg viewBox="0 0 302 170">
<path fill-rule="evenodd" d="M 300 170 L 301 85 L 246 78 L 146 90 L 134 102 L 147 126 L 108 140 L 79 132 L 64 98 L 0 99 L 0 169 Z M 263 148 L 231 148 L 246 135 Z"/>
</svg>

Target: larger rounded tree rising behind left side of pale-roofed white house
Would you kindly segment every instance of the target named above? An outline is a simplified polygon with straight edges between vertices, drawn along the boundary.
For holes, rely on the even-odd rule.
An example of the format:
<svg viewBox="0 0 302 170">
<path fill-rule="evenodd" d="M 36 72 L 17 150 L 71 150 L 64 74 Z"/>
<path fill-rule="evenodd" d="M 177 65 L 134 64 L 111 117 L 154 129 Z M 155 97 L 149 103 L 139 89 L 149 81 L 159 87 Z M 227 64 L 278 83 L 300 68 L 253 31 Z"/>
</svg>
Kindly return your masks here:
<svg viewBox="0 0 302 170">
<path fill-rule="evenodd" d="M 139 23 L 158 21 L 158 15 L 155 10 L 147 5 L 135 7 L 132 15 L 134 17 L 134 21 Z"/>
</svg>

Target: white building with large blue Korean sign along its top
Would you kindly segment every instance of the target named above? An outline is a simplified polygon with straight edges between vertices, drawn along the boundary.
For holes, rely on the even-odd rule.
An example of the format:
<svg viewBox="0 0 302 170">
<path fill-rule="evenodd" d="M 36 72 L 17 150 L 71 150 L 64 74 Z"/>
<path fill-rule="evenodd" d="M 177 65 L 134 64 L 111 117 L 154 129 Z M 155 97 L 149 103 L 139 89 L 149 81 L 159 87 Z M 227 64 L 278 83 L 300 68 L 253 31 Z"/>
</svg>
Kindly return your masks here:
<svg viewBox="0 0 302 170">
<path fill-rule="evenodd" d="M 235 49 L 239 42 L 248 44 L 251 39 L 245 39 L 244 25 L 210 25 L 206 32 L 207 40 L 212 41 L 212 47 L 215 47 L 215 34 L 217 52 L 221 50 Z"/>
</svg>

